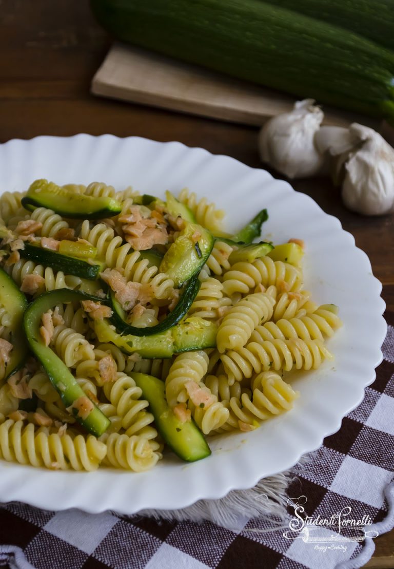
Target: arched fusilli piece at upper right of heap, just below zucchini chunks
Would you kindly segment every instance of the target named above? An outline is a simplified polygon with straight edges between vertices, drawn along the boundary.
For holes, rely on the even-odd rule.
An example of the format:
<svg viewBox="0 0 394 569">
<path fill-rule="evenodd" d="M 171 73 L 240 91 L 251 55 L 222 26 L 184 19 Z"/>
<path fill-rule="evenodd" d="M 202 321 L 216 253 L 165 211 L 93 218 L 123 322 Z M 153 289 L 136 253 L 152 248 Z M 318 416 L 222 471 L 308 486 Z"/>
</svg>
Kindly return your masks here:
<svg viewBox="0 0 394 569">
<path fill-rule="evenodd" d="M 300 269 L 289 263 L 261 257 L 252 263 L 244 261 L 234 263 L 223 275 L 223 292 L 227 296 L 235 292 L 249 294 L 258 284 L 264 287 L 275 285 L 279 289 L 298 291 L 302 286 L 302 273 Z"/>
</svg>

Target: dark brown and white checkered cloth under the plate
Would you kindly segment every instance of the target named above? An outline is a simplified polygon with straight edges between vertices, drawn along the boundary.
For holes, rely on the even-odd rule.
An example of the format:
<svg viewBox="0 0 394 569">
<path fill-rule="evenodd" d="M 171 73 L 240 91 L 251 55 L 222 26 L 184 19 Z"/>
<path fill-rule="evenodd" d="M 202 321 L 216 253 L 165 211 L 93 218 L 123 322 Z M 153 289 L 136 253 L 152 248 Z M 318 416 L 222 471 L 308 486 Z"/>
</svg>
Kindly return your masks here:
<svg viewBox="0 0 394 569">
<path fill-rule="evenodd" d="M 329 518 L 350 506 L 351 518 L 374 522 L 368 527 L 370 535 L 394 526 L 394 314 L 387 315 L 387 320 L 391 325 L 376 381 L 367 387 L 363 402 L 343 419 L 341 429 L 324 440 L 313 460 L 295 466 L 297 479 L 288 489 L 290 497 L 306 497 L 305 510 L 313 519 L 319 514 Z M 275 529 L 269 521 L 243 519 L 238 529 L 229 530 L 211 522 L 158 523 L 109 512 L 47 512 L 14 502 L 0 508 L 0 566 L 350 569 L 370 559 L 371 537 L 363 543 L 325 542 L 333 532 L 319 527 L 317 542 L 304 542 L 296 532 L 286 538 L 294 516 L 289 506 L 286 527 Z M 350 535 L 355 530 L 348 531 Z"/>
</svg>

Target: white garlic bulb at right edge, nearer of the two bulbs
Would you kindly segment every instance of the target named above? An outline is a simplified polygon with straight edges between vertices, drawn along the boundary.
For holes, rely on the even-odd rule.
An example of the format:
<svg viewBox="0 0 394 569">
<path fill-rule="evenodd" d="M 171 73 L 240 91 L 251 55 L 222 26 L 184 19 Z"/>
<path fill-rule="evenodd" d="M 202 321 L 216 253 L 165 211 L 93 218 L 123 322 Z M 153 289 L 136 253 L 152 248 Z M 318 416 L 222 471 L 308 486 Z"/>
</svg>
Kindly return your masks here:
<svg viewBox="0 0 394 569">
<path fill-rule="evenodd" d="M 394 211 L 394 149 L 366 126 L 354 123 L 350 130 L 362 146 L 350 152 L 345 163 L 343 202 L 364 215 Z"/>
</svg>

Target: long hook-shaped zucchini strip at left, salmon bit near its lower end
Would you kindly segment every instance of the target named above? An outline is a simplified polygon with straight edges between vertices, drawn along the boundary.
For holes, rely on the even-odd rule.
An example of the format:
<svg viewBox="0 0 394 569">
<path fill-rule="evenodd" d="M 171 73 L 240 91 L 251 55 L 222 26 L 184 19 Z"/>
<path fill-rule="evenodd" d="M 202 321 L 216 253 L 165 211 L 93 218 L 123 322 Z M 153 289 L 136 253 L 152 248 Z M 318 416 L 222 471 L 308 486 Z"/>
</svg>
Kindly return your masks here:
<svg viewBox="0 0 394 569">
<path fill-rule="evenodd" d="M 76 399 L 86 397 L 86 394 L 63 361 L 56 356 L 51 348 L 45 346 L 39 330 L 41 318 L 45 312 L 55 307 L 56 304 L 73 302 L 73 300 L 96 300 L 102 302 L 102 298 L 91 294 L 69 290 L 68 288 L 59 288 L 40 295 L 30 304 L 23 317 L 24 332 L 26 333 L 31 351 L 43 365 L 49 380 L 51 380 L 53 387 L 58 391 L 61 401 L 63 401 L 66 407 L 72 405 Z M 111 424 L 110 420 L 96 405 L 94 405 L 93 410 L 86 419 L 82 419 L 78 415 L 75 415 L 75 418 L 94 436 L 102 435 Z"/>
</svg>

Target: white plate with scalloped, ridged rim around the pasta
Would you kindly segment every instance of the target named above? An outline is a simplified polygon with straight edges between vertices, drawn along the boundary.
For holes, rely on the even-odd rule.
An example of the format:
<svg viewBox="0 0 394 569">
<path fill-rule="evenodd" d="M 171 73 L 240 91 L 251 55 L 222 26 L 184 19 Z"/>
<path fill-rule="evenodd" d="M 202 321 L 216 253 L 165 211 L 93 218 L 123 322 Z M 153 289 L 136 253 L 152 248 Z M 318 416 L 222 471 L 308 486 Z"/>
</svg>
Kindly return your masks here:
<svg viewBox="0 0 394 569">
<path fill-rule="evenodd" d="M 381 284 L 367 255 L 308 196 L 228 156 L 213 156 L 178 142 L 143 138 L 38 137 L 0 146 L 1 191 L 23 191 L 32 180 L 60 184 L 102 181 L 162 196 L 185 186 L 226 209 L 226 227 L 238 230 L 260 209 L 269 220 L 263 238 L 279 243 L 305 240 L 305 288 L 317 303 L 340 307 L 344 326 L 327 343 L 335 361 L 296 380 L 301 397 L 292 411 L 250 433 L 216 438 L 212 455 L 193 464 L 166 457 L 147 473 L 99 469 L 93 473 L 52 472 L 0 461 L 0 501 L 20 500 L 45 509 L 77 507 L 131 514 L 143 508 L 182 508 L 199 498 L 219 498 L 283 471 L 326 435 L 364 395 L 381 361 L 387 330 L 381 314 Z"/>
</svg>

